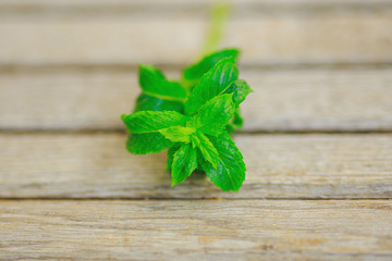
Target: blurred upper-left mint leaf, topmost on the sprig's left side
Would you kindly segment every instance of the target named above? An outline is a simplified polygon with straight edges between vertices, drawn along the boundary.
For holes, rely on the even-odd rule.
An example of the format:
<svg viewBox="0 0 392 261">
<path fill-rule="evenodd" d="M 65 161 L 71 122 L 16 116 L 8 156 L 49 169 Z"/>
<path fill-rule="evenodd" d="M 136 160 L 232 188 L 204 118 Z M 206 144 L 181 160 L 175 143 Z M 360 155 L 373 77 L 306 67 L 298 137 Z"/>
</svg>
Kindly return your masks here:
<svg viewBox="0 0 392 261">
<path fill-rule="evenodd" d="M 144 94 L 163 100 L 184 101 L 187 96 L 179 83 L 166 79 L 164 75 L 151 65 L 139 65 L 139 84 Z"/>
</svg>

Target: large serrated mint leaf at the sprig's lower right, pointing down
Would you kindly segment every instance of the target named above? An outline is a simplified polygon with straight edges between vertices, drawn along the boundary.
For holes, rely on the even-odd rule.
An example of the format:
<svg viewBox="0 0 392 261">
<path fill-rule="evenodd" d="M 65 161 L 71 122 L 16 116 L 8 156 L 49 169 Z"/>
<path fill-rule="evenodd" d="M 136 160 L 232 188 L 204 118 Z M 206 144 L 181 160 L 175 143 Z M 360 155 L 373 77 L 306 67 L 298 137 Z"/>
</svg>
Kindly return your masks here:
<svg viewBox="0 0 392 261">
<path fill-rule="evenodd" d="M 211 164 L 204 162 L 203 169 L 211 182 L 223 191 L 237 191 L 245 181 L 246 171 L 238 148 L 226 133 L 218 137 L 208 137 L 219 152 L 218 166 L 213 167 Z"/>
</svg>

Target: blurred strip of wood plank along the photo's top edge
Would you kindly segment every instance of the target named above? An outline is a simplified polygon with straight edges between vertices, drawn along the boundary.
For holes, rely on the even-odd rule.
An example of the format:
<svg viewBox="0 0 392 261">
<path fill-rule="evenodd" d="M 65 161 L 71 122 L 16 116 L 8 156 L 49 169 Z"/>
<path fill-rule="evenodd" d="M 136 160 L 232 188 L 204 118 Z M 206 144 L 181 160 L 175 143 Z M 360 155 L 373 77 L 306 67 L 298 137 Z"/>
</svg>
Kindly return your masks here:
<svg viewBox="0 0 392 261">
<path fill-rule="evenodd" d="M 215 0 L 0 0 L 0 20 L 162 18 L 205 16 Z M 231 0 L 232 17 L 385 12 L 390 0 Z"/>
</svg>

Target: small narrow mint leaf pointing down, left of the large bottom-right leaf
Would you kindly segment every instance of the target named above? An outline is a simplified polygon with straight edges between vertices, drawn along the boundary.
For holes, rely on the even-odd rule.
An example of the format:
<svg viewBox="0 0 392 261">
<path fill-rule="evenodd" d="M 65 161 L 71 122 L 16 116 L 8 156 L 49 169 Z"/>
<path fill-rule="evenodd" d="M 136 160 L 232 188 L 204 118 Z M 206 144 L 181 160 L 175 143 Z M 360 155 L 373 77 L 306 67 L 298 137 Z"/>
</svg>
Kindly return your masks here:
<svg viewBox="0 0 392 261">
<path fill-rule="evenodd" d="M 172 186 L 182 183 L 197 167 L 197 153 L 191 144 L 184 144 L 175 151 L 172 163 Z"/>
</svg>

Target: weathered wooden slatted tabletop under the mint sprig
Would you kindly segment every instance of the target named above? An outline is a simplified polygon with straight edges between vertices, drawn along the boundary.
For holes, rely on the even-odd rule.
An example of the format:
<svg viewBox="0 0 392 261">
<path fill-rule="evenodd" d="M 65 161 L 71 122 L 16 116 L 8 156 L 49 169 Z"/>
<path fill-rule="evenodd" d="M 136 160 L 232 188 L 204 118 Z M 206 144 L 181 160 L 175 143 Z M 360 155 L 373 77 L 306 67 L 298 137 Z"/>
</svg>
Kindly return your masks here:
<svg viewBox="0 0 392 261">
<path fill-rule="evenodd" d="M 0 1 L 1 260 L 392 260 L 392 1 L 233 1 L 237 194 L 126 152 L 137 63 L 177 76 L 209 3 Z"/>
</svg>

